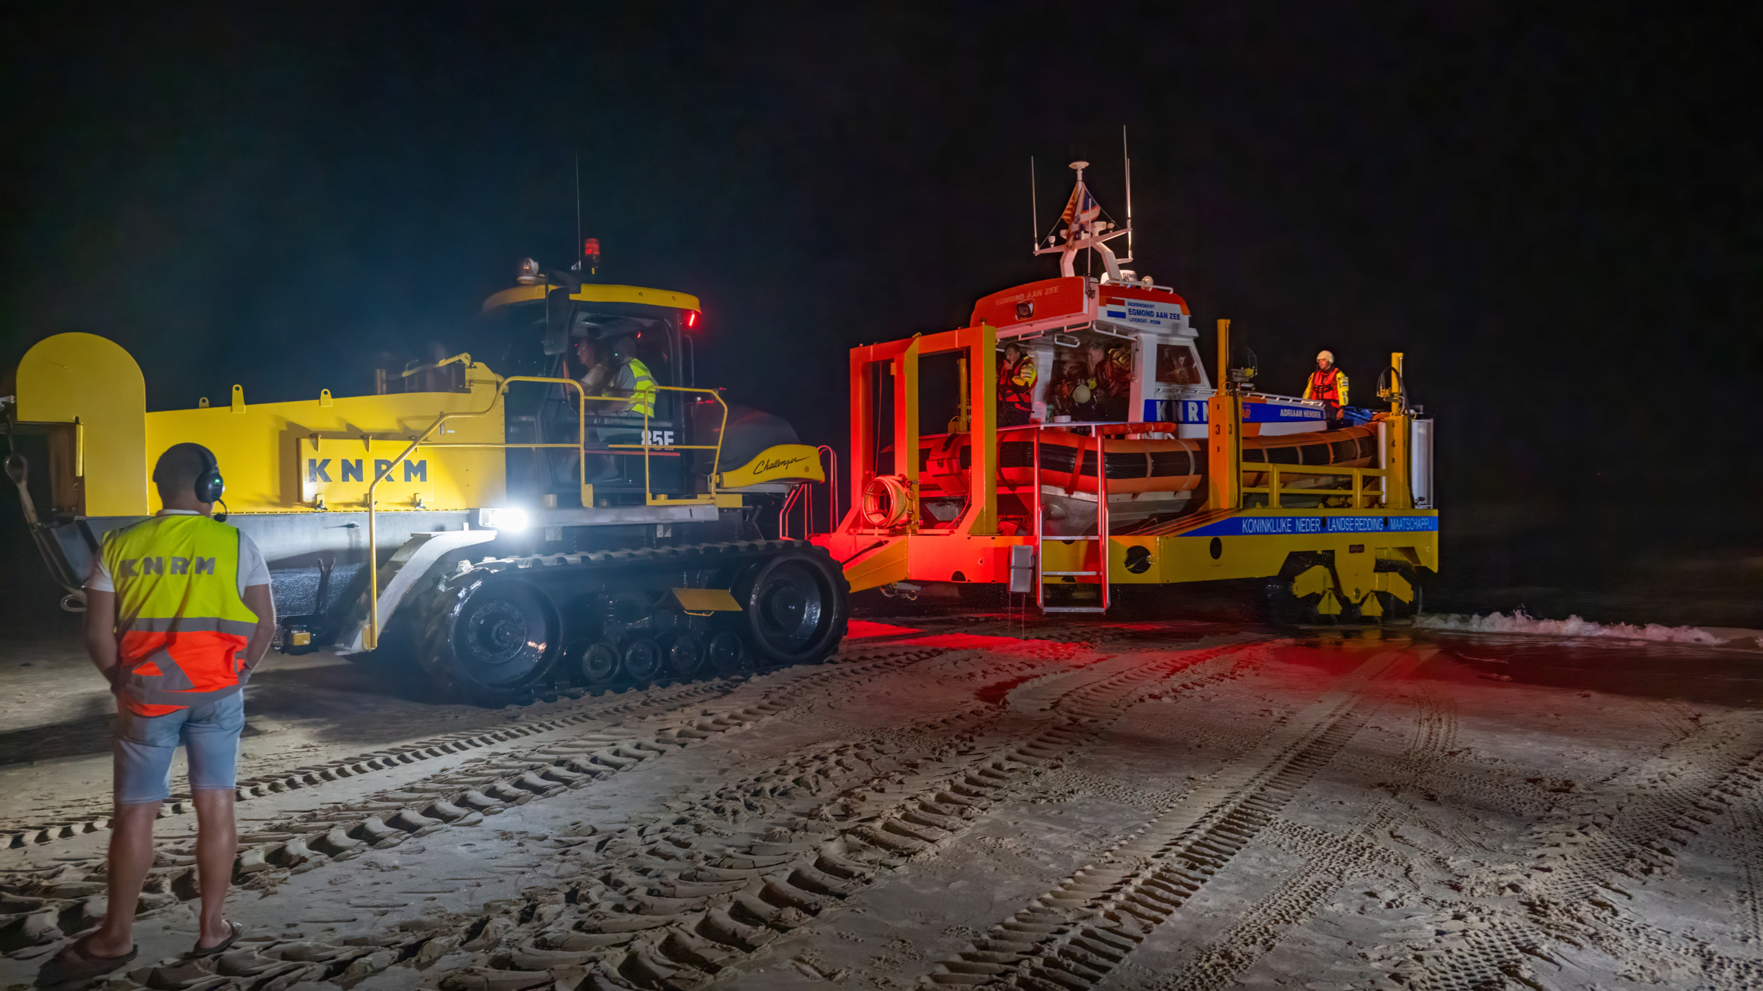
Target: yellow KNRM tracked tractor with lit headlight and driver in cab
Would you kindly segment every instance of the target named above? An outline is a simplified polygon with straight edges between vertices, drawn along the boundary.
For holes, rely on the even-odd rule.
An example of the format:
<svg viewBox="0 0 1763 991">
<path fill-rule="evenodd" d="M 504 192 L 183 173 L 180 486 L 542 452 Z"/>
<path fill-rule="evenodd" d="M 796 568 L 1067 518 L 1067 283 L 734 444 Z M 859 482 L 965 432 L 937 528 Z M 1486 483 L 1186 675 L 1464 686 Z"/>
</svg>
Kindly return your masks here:
<svg viewBox="0 0 1763 991">
<path fill-rule="evenodd" d="M 63 607 L 81 608 L 104 533 L 159 510 L 157 457 L 196 441 L 222 466 L 229 522 L 270 561 L 289 652 L 397 649 L 494 702 L 837 649 L 839 566 L 756 525 L 823 480 L 820 455 L 691 381 L 696 298 L 529 259 L 483 310 L 494 367 L 453 354 L 379 370 L 374 395 L 300 402 L 247 404 L 233 386 L 148 413 L 115 342 L 32 347 L 0 409 L 14 436 L 41 436 L 46 471 L 32 481 L 14 451 L 7 473 Z M 599 376 L 571 365 L 596 351 Z"/>
</svg>

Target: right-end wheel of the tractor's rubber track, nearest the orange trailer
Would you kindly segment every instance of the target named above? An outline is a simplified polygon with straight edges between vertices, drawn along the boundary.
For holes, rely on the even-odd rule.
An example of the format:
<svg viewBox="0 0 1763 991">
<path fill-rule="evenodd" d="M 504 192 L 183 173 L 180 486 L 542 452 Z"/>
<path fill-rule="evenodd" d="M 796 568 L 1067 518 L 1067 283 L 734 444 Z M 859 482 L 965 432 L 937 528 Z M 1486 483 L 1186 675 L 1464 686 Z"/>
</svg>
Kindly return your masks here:
<svg viewBox="0 0 1763 991">
<path fill-rule="evenodd" d="M 848 589 L 825 548 L 811 547 L 762 561 L 735 585 L 735 600 L 765 661 L 806 665 L 830 654 L 844 637 Z"/>
</svg>

